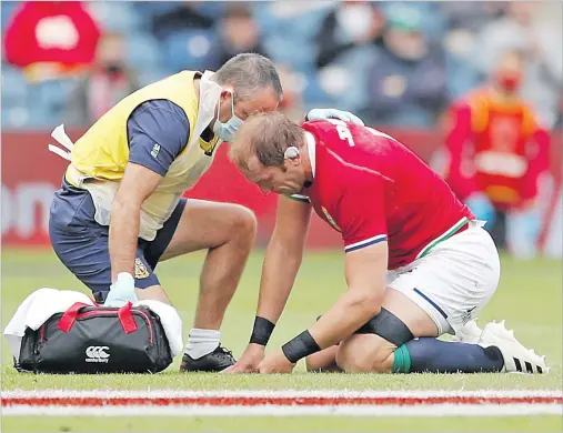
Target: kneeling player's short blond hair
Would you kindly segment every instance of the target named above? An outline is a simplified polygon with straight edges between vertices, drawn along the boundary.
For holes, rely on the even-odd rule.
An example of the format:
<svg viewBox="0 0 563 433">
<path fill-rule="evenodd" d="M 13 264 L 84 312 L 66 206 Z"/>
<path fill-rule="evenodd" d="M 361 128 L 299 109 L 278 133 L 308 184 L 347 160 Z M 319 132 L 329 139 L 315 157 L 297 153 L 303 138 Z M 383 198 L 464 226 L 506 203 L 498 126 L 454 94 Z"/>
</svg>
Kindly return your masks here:
<svg viewBox="0 0 563 433">
<path fill-rule="evenodd" d="M 254 154 L 264 167 L 282 167 L 289 147 L 304 143 L 304 131 L 280 112 L 257 113 L 239 129 L 231 145 L 231 159 L 239 167 Z"/>
</svg>

